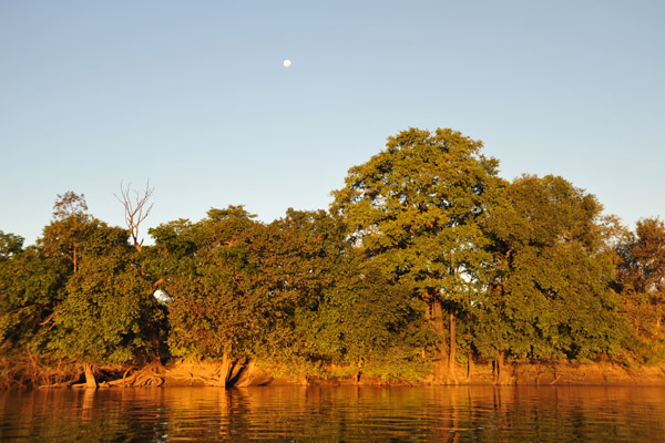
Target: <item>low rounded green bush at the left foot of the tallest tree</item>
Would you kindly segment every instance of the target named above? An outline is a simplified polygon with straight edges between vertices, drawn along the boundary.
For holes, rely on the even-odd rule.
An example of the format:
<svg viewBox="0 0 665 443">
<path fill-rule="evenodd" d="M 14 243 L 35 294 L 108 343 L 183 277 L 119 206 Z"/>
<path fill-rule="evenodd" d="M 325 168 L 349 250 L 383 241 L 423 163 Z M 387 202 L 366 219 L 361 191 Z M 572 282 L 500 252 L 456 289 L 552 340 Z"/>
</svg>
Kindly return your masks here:
<svg viewBox="0 0 665 443">
<path fill-rule="evenodd" d="M 296 331 L 318 363 L 383 379 L 417 379 L 431 370 L 421 302 L 372 261 L 347 251 L 316 310 L 296 317 Z"/>
</svg>

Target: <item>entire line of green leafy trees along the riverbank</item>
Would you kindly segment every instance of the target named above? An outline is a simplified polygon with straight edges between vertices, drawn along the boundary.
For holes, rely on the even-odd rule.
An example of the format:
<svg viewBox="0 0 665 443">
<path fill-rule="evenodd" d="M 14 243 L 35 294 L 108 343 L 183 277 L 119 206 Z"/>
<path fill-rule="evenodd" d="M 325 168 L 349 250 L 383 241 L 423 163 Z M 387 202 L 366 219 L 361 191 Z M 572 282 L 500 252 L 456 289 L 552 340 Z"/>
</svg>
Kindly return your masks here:
<svg viewBox="0 0 665 443">
<path fill-rule="evenodd" d="M 0 231 L 0 379 L 181 358 L 438 382 L 474 360 L 661 362 L 663 222 L 630 231 L 561 177 L 498 166 L 459 132 L 410 128 L 328 212 L 211 209 L 151 246 L 131 204 L 124 229 L 60 195 L 35 245 Z"/>
</svg>

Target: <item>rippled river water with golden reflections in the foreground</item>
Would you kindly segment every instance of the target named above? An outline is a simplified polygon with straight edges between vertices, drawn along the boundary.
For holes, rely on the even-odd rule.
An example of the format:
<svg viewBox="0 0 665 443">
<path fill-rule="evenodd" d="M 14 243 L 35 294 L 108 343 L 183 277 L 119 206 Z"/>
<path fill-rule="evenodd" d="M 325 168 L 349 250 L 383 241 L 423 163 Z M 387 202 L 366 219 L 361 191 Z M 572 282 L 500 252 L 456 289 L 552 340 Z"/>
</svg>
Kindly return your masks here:
<svg viewBox="0 0 665 443">
<path fill-rule="evenodd" d="M 665 388 L 8 391 L 0 441 L 658 442 Z"/>
</svg>

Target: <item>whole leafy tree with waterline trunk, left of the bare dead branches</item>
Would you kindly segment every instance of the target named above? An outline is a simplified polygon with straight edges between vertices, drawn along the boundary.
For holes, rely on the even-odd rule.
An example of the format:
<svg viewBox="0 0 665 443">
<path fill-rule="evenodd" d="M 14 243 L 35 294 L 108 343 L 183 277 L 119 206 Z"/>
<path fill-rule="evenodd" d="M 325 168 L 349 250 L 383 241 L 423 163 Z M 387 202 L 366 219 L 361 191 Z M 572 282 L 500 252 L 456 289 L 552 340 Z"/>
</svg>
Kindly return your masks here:
<svg viewBox="0 0 665 443">
<path fill-rule="evenodd" d="M 59 195 L 53 209 L 38 246 L 63 268 L 64 282 L 52 316 L 40 324 L 52 328 L 49 349 L 79 361 L 95 385 L 94 364 L 153 353 L 145 336 L 158 310 L 129 231 L 90 215 L 82 194 Z"/>
</svg>

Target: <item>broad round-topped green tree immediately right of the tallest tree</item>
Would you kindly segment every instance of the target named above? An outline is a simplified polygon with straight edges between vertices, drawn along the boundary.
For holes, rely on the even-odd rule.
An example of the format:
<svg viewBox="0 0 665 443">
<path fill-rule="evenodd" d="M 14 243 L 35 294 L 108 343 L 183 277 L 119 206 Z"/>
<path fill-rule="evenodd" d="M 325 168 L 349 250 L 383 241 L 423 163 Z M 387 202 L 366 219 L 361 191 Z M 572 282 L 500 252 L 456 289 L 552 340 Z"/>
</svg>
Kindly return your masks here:
<svg viewBox="0 0 665 443">
<path fill-rule="evenodd" d="M 493 238 L 490 292 L 474 344 L 483 357 L 589 359 L 621 352 L 625 324 L 610 288 L 602 206 L 556 176 L 522 176 L 485 220 Z"/>
</svg>

